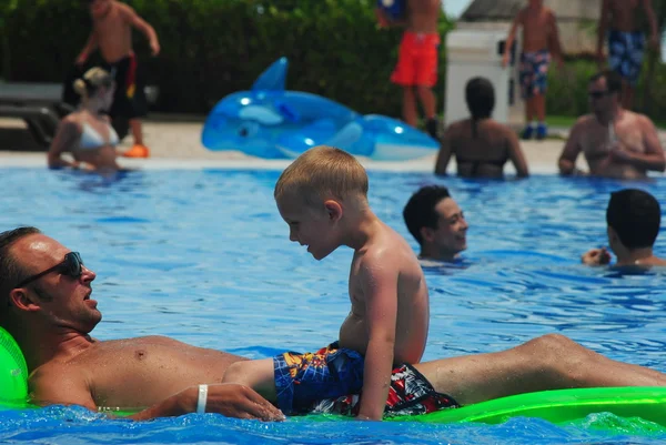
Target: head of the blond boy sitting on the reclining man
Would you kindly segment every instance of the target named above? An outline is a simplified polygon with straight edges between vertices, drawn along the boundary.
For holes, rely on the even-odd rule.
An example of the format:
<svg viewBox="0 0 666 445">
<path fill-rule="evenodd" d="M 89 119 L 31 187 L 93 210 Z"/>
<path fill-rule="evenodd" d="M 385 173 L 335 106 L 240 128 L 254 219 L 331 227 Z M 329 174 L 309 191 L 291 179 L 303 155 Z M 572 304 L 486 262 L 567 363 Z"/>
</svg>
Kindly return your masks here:
<svg viewBox="0 0 666 445">
<path fill-rule="evenodd" d="M 290 240 L 307 245 L 321 260 L 337 249 L 346 234 L 343 213 L 367 208 L 367 174 L 347 152 L 320 145 L 301 154 L 280 175 L 275 202 L 289 224 Z"/>
</svg>

